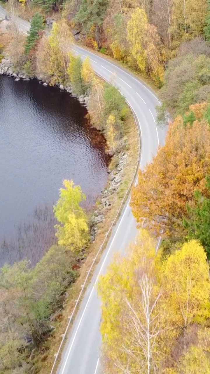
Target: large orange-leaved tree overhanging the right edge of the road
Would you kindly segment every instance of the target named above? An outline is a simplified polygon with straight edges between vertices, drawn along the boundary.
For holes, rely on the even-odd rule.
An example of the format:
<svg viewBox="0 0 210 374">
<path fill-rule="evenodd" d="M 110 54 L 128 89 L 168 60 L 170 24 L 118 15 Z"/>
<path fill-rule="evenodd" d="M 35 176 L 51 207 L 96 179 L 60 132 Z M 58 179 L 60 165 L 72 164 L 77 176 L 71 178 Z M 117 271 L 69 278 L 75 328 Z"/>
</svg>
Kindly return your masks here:
<svg viewBox="0 0 210 374">
<path fill-rule="evenodd" d="M 176 117 L 164 147 L 139 171 L 138 186 L 132 190 L 132 211 L 140 226 L 146 221 L 152 233 L 159 234 L 164 225 L 167 235 L 182 236 L 186 203 L 194 206 L 196 189 L 208 194 L 210 128 L 204 109 L 204 104 L 191 105 L 184 119 Z"/>
</svg>

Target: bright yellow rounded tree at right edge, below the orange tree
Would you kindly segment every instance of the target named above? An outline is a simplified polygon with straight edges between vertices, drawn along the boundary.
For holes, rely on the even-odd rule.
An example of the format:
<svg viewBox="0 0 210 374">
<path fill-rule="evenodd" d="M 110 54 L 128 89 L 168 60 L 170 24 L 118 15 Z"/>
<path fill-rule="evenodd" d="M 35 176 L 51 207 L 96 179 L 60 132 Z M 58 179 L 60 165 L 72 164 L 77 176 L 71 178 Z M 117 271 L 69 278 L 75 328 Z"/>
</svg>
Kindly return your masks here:
<svg viewBox="0 0 210 374">
<path fill-rule="evenodd" d="M 209 301 L 209 267 L 204 248 L 191 240 L 183 244 L 163 266 L 164 297 L 170 323 L 180 329 L 186 350 L 186 330 Z"/>
</svg>

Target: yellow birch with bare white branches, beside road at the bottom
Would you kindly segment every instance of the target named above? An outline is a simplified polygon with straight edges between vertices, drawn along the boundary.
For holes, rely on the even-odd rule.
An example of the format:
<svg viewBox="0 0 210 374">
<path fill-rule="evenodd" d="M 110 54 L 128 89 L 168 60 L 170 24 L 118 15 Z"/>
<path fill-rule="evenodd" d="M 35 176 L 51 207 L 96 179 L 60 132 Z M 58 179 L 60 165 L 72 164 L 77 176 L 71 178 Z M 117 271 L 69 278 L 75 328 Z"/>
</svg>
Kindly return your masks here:
<svg viewBox="0 0 210 374">
<path fill-rule="evenodd" d="M 116 256 L 99 281 L 104 368 L 110 374 L 153 373 L 164 329 L 158 308 L 160 257 L 142 230 L 127 258 Z"/>
</svg>

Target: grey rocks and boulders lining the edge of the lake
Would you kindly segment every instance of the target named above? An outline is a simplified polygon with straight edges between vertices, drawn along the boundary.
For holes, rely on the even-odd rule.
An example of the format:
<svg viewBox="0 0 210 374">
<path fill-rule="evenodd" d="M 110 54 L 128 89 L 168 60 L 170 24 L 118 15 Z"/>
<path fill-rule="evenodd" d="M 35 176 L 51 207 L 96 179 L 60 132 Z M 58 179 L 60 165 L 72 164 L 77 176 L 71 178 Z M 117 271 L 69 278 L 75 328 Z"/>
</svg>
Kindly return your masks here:
<svg viewBox="0 0 210 374">
<path fill-rule="evenodd" d="M 22 73 L 19 71 L 15 71 L 12 62 L 9 59 L 4 58 L 0 63 L 0 75 L 11 76 L 15 78 L 15 81 L 18 82 L 20 79 L 24 80 L 25 82 L 37 79 L 40 84 L 43 86 L 48 86 L 47 82 L 44 82 L 41 77 L 37 76 L 30 76 L 29 74 Z M 88 110 L 89 105 L 89 95 L 74 95 L 70 86 L 64 86 L 62 84 L 55 85 L 59 87 L 62 91 L 66 91 L 70 93 L 70 95 L 76 98 L 81 105 L 84 105 Z M 108 170 L 108 183 L 104 190 L 101 191 L 101 197 L 97 204 L 97 209 L 93 212 L 93 215 L 90 219 L 89 228 L 90 228 L 90 241 L 93 242 L 95 240 L 96 234 L 99 232 L 99 224 L 104 222 L 105 220 L 105 213 L 110 209 L 111 202 L 109 201 L 109 197 L 116 193 L 118 190 L 121 180 L 122 180 L 122 172 L 123 168 L 126 164 L 127 154 L 124 152 L 125 148 L 124 140 L 121 141 L 120 148 L 115 156 L 117 157 L 115 162 L 115 168 L 113 170 Z M 110 154 L 113 156 L 113 154 Z"/>
</svg>

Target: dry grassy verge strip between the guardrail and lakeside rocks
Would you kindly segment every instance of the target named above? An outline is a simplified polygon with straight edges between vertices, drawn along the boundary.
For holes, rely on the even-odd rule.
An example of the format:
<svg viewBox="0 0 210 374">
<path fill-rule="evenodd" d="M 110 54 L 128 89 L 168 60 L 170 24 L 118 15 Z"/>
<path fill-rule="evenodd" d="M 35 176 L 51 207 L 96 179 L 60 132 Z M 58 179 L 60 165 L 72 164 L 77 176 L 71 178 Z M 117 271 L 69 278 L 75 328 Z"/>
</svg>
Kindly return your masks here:
<svg viewBox="0 0 210 374">
<path fill-rule="evenodd" d="M 41 352 L 38 352 L 37 355 L 34 356 L 33 361 L 35 363 L 36 373 L 40 373 L 40 374 L 50 373 L 54 359 L 55 359 L 54 355 L 58 351 L 59 345 L 61 344 L 61 340 L 62 340 L 61 335 L 64 334 L 64 331 L 67 327 L 68 316 L 71 315 L 72 310 L 74 309 L 75 300 L 77 300 L 78 295 L 81 291 L 81 286 L 84 283 L 84 280 L 87 275 L 87 271 L 90 269 L 92 261 L 95 258 L 98 252 L 98 249 L 100 248 L 104 240 L 104 237 L 106 236 L 106 233 L 108 232 L 108 229 L 112 224 L 112 221 L 114 221 L 116 212 L 120 208 L 121 201 L 124 197 L 124 194 L 126 193 L 133 179 L 133 175 L 135 173 L 136 164 L 137 164 L 138 157 L 139 157 L 139 136 L 138 136 L 138 129 L 137 129 L 132 111 L 130 111 L 130 114 L 126 120 L 126 128 L 128 129 L 127 134 L 125 135 L 126 153 L 128 157 L 127 157 L 126 165 L 124 166 L 124 169 L 123 169 L 123 178 L 122 178 L 120 187 L 118 188 L 115 194 L 109 196 L 109 201 L 111 202 L 111 208 L 105 214 L 105 221 L 101 225 L 100 224 L 98 225 L 99 227 L 98 235 L 96 236 L 95 242 L 93 242 L 89 247 L 86 261 L 83 263 L 83 265 L 80 268 L 80 275 L 77 281 L 74 284 L 72 284 L 71 287 L 67 290 L 69 295 L 68 295 L 68 299 L 65 301 L 65 308 L 58 314 L 56 321 L 53 321 L 53 325 L 55 326 L 55 331 L 48 338 L 48 340 L 43 343 L 43 346 L 41 347 Z M 113 163 L 114 163 L 114 160 L 113 160 Z M 112 165 L 110 165 L 110 167 L 112 167 Z M 103 249 L 105 249 L 105 245 Z M 101 251 L 101 254 L 102 254 L 102 251 Z M 91 280 L 95 267 L 100 260 L 101 254 L 98 256 L 95 262 L 95 266 L 93 266 L 92 273 L 90 274 L 90 277 L 89 277 L 89 282 Z M 88 282 L 87 282 L 87 285 L 88 285 Z M 75 313 L 75 316 L 76 316 L 76 313 Z"/>
</svg>

